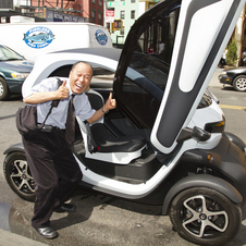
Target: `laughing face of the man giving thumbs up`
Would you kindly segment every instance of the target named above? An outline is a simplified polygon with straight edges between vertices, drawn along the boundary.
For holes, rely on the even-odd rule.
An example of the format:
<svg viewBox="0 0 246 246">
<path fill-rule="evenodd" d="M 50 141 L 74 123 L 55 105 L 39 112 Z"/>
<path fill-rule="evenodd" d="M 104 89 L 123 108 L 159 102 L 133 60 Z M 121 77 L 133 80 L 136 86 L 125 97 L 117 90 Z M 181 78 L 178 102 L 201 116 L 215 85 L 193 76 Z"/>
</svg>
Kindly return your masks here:
<svg viewBox="0 0 246 246">
<path fill-rule="evenodd" d="M 74 94 L 82 94 L 90 84 L 93 70 L 86 63 L 78 63 L 70 72 L 70 87 Z"/>
</svg>

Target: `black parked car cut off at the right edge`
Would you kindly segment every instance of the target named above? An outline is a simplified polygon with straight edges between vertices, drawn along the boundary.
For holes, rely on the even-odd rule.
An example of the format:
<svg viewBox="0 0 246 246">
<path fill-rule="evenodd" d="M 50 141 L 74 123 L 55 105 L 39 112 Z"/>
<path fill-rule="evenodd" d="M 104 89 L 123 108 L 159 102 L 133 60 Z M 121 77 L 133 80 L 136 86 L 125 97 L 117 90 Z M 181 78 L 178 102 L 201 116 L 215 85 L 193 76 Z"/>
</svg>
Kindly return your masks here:
<svg viewBox="0 0 246 246">
<path fill-rule="evenodd" d="M 219 75 L 220 83 L 231 85 L 237 91 L 246 91 L 246 66 L 224 70 Z"/>
</svg>

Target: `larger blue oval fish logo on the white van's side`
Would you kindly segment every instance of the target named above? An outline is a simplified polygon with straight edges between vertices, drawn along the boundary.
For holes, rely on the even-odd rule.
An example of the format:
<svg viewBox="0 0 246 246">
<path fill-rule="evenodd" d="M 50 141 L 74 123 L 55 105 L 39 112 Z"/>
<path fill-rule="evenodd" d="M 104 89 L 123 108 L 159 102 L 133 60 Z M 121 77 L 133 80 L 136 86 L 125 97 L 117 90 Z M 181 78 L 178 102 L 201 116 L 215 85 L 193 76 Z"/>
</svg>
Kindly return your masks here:
<svg viewBox="0 0 246 246">
<path fill-rule="evenodd" d="M 27 46 L 34 49 L 41 49 L 50 45 L 54 39 L 52 32 L 45 26 L 30 28 L 24 34 L 23 40 Z"/>
</svg>

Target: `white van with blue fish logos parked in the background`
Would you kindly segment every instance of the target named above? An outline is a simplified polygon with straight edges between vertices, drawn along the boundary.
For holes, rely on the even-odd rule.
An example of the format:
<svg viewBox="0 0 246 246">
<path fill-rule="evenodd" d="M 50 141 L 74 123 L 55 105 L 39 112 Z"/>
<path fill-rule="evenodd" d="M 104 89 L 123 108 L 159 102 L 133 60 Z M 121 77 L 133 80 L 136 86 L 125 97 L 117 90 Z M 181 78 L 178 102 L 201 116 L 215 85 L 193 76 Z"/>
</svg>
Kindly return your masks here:
<svg viewBox="0 0 246 246">
<path fill-rule="evenodd" d="M 74 48 L 112 48 L 108 29 L 91 23 L 38 22 L 0 25 L 0 44 L 10 47 L 26 59 Z"/>
</svg>

